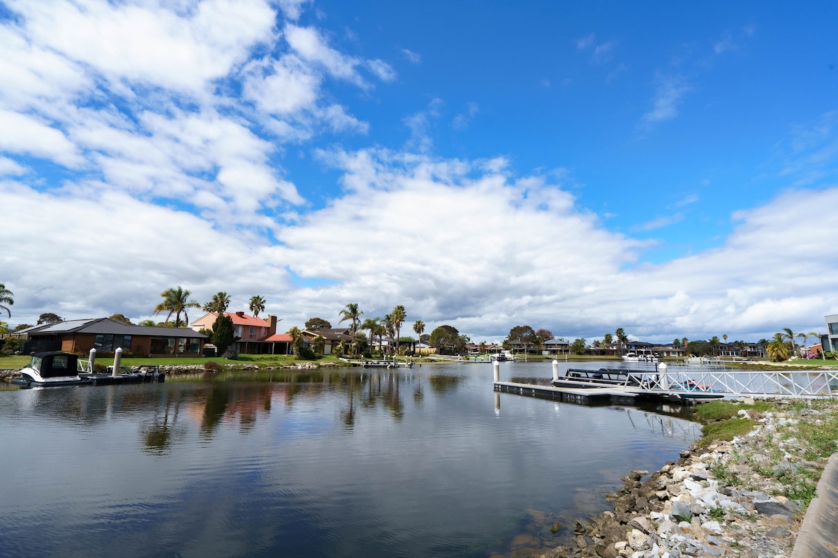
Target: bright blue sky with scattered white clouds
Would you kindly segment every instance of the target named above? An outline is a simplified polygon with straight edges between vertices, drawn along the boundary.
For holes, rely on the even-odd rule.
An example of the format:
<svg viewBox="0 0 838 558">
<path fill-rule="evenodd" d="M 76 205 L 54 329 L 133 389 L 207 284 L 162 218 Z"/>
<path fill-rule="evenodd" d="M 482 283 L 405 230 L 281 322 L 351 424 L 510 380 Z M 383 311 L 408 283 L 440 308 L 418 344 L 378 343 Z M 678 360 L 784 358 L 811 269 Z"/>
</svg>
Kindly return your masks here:
<svg viewBox="0 0 838 558">
<path fill-rule="evenodd" d="M 824 332 L 838 4 L 565 4 L 0 0 L 0 319 Z"/>
</svg>

